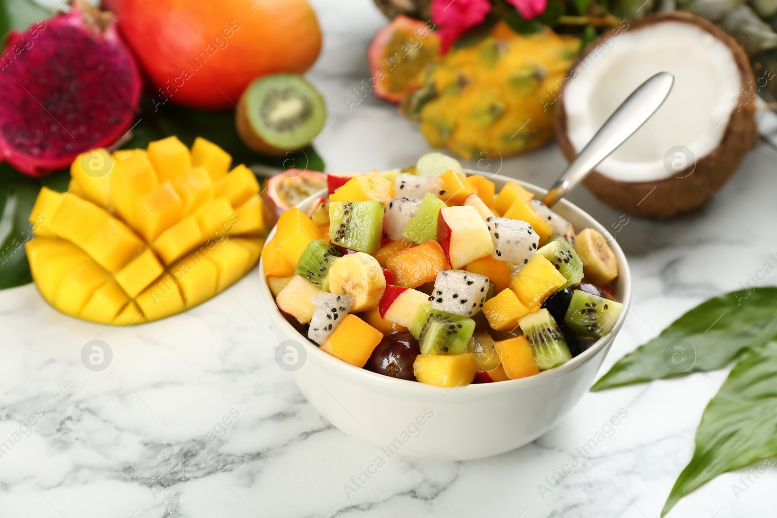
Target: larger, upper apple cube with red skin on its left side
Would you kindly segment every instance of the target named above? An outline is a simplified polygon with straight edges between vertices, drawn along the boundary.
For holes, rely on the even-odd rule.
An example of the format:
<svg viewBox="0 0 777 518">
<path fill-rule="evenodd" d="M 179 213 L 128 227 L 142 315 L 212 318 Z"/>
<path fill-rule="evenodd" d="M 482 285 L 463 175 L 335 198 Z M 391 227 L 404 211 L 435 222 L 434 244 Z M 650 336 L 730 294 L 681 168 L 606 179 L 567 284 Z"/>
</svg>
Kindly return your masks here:
<svg viewBox="0 0 777 518">
<path fill-rule="evenodd" d="M 493 253 L 491 233 L 475 207 L 441 208 L 437 215 L 437 242 L 452 269 L 461 269 Z"/>
</svg>

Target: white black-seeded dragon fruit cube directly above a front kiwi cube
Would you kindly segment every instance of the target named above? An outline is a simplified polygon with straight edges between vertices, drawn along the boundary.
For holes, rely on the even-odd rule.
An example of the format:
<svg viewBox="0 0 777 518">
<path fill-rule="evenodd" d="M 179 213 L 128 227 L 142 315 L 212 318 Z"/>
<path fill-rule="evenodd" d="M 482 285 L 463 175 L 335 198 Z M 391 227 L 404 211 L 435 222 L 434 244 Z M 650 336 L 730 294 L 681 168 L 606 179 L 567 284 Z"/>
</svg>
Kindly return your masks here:
<svg viewBox="0 0 777 518">
<path fill-rule="evenodd" d="M 483 309 L 488 289 L 489 280 L 485 275 L 444 269 L 437 273 L 429 301 L 432 309 L 471 317 Z"/>
</svg>

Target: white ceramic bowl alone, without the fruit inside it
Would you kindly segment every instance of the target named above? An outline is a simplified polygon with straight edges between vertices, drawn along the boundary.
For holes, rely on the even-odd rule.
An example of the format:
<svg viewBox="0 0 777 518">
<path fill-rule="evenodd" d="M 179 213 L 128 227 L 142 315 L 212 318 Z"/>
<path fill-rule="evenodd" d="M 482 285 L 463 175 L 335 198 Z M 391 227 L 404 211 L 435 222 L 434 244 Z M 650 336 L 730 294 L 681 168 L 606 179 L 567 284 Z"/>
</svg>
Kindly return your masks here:
<svg viewBox="0 0 777 518">
<path fill-rule="evenodd" d="M 506 176 L 490 178 L 500 189 Z M 521 183 L 538 197 L 545 194 Z M 305 211 L 321 195 L 298 207 Z M 574 228 L 607 230 L 566 200 L 555 210 Z M 270 233 L 274 234 L 275 229 Z M 382 448 L 382 457 L 465 460 L 501 454 L 530 443 L 547 432 L 591 388 L 612 340 L 621 329 L 631 301 L 631 274 L 622 249 L 615 241 L 618 279 L 614 287 L 625 306 L 611 332 L 560 367 L 535 376 L 466 387 L 439 388 L 417 381 L 398 380 L 325 353 L 289 324 L 275 304 L 264 280 L 261 289 L 278 342 L 298 352 L 301 367 L 294 381 L 313 407 L 334 426 L 352 437 Z M 292 355 L 293 356 L 293 355 Z M 289 356 L 290 358 L 292 356 Z"/>
</svg>

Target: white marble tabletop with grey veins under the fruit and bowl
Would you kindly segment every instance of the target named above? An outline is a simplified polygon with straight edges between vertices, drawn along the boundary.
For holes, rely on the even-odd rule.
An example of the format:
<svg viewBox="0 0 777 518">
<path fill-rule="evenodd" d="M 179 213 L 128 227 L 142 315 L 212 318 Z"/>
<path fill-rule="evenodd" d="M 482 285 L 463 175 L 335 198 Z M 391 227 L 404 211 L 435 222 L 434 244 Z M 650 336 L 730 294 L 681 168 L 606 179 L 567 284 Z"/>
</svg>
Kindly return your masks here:
<svg viewBox="0 0 777 518">
<path fill-rule="evenodd" d="M 375 99 L 351 111 L 343 102 L 367 78 L 364 40 L 384 19 L 368 0 L 314 4 L 326 41 L 310 78 L 333 121 L 316 147 L 329 170 L 414 162 L 428 148 L 413 123 Z M 660 223 L 632 219 L 616 234 L 632 266 L 634 300 L 604 369 L 770 260 L 777 251 L 775 161 L 777 152 L 761 145 L 697 214 Z M 505 161 L 502 172 L 549 186 L 564 164 L 551 145 Z M 605 225 L 618 221 L 620 214 L 584 189 L 571 199 Z M 131 329 L 55 313 L 33 287 L 5 290 L 0 330 L 2 518 L 653 518 L 690 459 L 702 410 L 726 375 L 587 394 L 558 429 L 499 457 L 394 457 L 349 499 L 343 485 L 377 450 L 330 426 L 277 367 L 256 271 L 192 311 Z M 93 339 L 113 353 L 100 372 L 81 361 Z M 576 449 L 618 410 L 626 417 L 611 436 L 563 480 L 556 475 L 570 471 L 564 466 Z M 35 426 L 22 426 L 30 416 Z M 560 485 L 541 490 L 551 488 L 554 475 Z M 670 516 L 773 515 L 777 471 L 737 498 L 732 485 L 740 475 L 717 478 Z"/>
</svg>

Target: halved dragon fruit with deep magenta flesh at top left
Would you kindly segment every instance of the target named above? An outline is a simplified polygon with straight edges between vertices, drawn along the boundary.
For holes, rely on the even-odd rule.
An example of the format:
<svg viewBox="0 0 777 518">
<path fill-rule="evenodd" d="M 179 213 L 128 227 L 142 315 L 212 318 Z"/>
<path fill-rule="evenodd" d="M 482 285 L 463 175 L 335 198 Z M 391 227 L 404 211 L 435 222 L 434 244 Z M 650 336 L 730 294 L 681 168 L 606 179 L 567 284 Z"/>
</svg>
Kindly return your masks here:
<svg viewBox="0 0 777 518">
<path fill-rule="evenodd" d="M 140 94 L 138 65 L 113 15 L 76 0 L 67 14 L 9 32 L 0 56 L 0 159 L 29 176 L 67 167 L 126 134 Z"/>
</svg>

